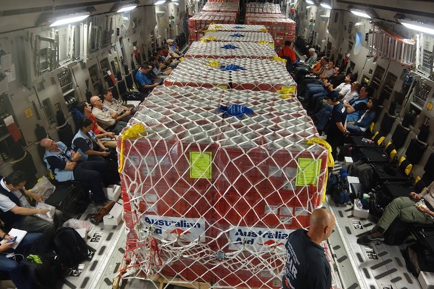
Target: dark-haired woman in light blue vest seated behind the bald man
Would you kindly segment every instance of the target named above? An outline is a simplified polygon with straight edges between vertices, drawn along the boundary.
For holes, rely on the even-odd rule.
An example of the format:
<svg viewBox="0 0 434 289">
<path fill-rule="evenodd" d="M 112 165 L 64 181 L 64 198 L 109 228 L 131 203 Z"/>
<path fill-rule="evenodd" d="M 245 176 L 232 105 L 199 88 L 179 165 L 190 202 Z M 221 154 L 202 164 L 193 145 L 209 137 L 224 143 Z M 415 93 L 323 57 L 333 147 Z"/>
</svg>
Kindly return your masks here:
<svg viewBox="0 0 434 289">
<path fill-rule="evenodd" d="M 82 157 L 80 160 L 105 160 L 110 155 L 106 148 L 92 131 L 92 121 L 83 119 L 80 129 L 73 138 L 72 148 L 78 151 Z"/>
</svg>

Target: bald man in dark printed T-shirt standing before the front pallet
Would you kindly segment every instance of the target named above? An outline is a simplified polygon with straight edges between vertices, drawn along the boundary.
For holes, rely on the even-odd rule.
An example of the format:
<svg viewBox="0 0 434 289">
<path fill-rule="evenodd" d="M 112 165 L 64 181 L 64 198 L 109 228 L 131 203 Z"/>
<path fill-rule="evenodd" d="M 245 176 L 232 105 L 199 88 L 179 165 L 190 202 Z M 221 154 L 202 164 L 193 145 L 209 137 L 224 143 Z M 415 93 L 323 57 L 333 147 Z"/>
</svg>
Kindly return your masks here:
<svg viewBox="0 0 434 289">
<path fill-rule="evenodd" d="M 330 289 L 331 270 L 321 242 L 327 240 L 334 225 L 329 211 L 316 209 L 309 231 L 299 229 L 288 236 L 283 289 Z"/>
</svg>

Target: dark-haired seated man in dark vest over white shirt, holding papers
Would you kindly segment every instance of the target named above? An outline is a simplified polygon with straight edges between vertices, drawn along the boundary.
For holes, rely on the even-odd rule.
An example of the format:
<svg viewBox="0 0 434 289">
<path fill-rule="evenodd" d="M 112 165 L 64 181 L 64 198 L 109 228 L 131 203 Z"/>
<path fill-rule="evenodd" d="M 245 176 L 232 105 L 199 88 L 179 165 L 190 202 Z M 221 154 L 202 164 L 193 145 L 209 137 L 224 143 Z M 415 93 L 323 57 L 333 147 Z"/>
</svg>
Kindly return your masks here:
<svg viewBox="0 0 434 289">
<path fill-rule="evenodd" d="M 30 206 L 25 196 L 38 202 L 44 202 L 44 199 L 28 191 L 24 187 L 25 184 L 26 175 L 22 171 L 14 171 L 2 178 L 0 181 L 0 219 L 5 223 L 8 231 L 16 228 L 29 233 L 44 233 L 46 240 L 51 242 L 60 225 L 62 213 L 56 210 L 53 223 L 34 216 L 36 214 L 46 215 L 48 209 L 35 209 Z"/>
</svg>

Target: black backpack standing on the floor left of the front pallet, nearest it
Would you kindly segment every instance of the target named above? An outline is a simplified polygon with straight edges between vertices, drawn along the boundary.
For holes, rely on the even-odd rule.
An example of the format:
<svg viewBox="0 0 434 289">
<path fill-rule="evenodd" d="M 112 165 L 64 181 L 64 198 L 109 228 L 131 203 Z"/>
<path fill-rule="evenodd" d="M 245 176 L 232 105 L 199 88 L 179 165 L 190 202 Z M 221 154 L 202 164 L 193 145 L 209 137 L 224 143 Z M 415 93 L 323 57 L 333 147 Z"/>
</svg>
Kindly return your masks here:
<svg viewBox="0 0 434 289">
<path fill-rule="evenodd" d="M 56 251 L 64 266 L 75 267 L 84 260 L 91 260 L 94 248 L 73 228 L 58 228 L 54 236 L 54 251 Z"/>
</svg>

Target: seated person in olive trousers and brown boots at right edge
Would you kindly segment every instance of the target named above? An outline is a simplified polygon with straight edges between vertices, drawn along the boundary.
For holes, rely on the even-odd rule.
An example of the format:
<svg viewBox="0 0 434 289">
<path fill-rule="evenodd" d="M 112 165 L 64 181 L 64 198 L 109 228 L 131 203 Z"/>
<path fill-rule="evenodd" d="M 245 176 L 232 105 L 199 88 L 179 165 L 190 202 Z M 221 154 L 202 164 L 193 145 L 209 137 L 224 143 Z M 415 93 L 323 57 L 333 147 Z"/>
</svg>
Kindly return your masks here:
<svg viewBox="0 0 434 289">
<path fill-rule="evenodd" d="M 434 212 L 429 210 L 426 205 L 415 206 L 416 202 L 420 201 L 422 198 L 425 200 L 425 204 L 428 203 L 431 207 L 434 206 L 434 182 L 431 182 L 431 184 L 425 187 L 420 194 L 416 194 L 416 192 L 412 191 L 409 197 L 398 197 L 394 199 L 384 209 L 384 213 L 377 225 L 369 234 L 358 238 L 357 243 L 367 245 L 377 240 L 383 241 L 384 232 L 387 231 L 390 224 L 392 224 L 396 218 L 399 218 L 399 220 L 403 222 L 431 225 Z"/>
</svg>

